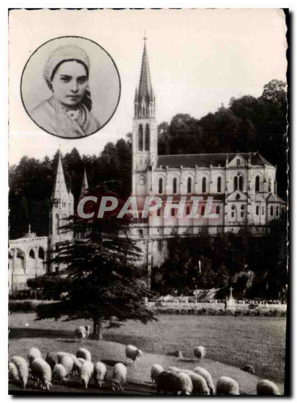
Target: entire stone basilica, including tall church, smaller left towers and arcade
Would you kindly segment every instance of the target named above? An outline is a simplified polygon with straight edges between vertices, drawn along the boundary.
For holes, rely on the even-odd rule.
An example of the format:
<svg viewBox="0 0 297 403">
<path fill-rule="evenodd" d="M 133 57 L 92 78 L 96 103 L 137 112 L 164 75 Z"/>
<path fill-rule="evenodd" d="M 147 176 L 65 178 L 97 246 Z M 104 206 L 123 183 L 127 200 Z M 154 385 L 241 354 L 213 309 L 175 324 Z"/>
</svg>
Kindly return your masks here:
<svg viewBox="0 0 297 403">
<path fill-rule="evenodd" d="M 140 264 L 147 267 L 148 286 L 152 267 L 160 265 L 167 255 L 167 240 L 173 236 L 193 236 L 234 232 L 247 226 L 255 236 L 267 234 L 268 223 L 280 217 L 286 203 L 277 195 L 276 167 L 257 152 L 158 155 L 158 133 L 155 118 L 156 100 L 149 72 L 144 42 L 139 85 L 134 98 L 132 135 L 132 195 L 138 198 L 158 196 L 163 205 L 148 217 L 135 218 L 130 236 L 143 251 Z M 84 173 L 81 195 L 87 191 Z M 184 200 L 180 216 L 178 203 Z M 164 205 L 171 203 L 164 217 Z M 195 200 L 196 216 L 191 217 Z M 206 214 L 211 200 L 210 214 Z M 10 293 L 27 288 L 26 281 L 35 276 L 59 271 L 47 263 L 54 245 L 71 239 L 59 226 L 73 214 L 74 199 L 67 190 L 61 156 L 51 197 L 50 233 L 37 237 L 31 232 L 10 241 Z M 62 223 L 62 224 L 61 224 Z"/>
</svg>

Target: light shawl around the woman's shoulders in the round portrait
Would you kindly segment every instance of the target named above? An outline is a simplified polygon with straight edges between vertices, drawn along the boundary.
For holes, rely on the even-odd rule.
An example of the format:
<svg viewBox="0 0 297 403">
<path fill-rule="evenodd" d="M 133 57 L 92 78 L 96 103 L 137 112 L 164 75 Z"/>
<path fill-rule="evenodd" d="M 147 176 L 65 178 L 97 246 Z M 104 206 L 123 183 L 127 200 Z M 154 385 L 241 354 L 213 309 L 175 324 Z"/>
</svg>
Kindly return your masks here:
<svg viewBox="0 0 297 403">
<path fill-rule="evenodd" d="M 42 101 L 30 115 L 44 130 L 68 139 L 91 135 L 100 128 L 100 122 L 84 104 L 80 103 L 78 113 L 71 117 L 71 111 L 66 111 L 53 97 Z"/>
</svg>

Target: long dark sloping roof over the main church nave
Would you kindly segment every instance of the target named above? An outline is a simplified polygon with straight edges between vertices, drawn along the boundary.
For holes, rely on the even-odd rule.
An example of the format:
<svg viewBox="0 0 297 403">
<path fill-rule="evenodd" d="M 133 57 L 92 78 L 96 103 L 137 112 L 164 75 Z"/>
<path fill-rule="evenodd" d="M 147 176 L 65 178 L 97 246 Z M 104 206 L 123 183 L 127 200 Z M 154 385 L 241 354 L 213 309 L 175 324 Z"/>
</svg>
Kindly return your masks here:
<svg viewBox="0 0 297 403">
<path fill-rule="evenodd" d="M 213 166 L 225 166 L 226 157 L 231 161 L 237 155 L 241 155 L 246 161 L 251 157 L 252 165 L 269 165 L 273 166 L 265 160 L 259 153 L 220 153 L 220 154 L 177 154 L 177 155 L 159 155 L 157 160 L 157 168 L 161 166 L 165 168 L 195 168 Z"/>
</svg>

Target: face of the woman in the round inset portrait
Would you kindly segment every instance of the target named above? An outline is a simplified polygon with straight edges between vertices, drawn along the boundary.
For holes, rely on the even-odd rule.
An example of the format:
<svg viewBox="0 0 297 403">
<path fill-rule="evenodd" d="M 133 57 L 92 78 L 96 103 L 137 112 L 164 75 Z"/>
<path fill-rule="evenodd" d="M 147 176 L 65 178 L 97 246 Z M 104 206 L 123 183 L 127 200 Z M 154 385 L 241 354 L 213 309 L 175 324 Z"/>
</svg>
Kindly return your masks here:
<svg viewBox="0 0 297 403">
<path fill-rule="evenodd" d="M 84 96 L 88 84 L 87 72 L 84 65 L 75 60 L 64 61 L 59 65 L 51 83 L 55 100 L 71 109 Z"/>
</svg>

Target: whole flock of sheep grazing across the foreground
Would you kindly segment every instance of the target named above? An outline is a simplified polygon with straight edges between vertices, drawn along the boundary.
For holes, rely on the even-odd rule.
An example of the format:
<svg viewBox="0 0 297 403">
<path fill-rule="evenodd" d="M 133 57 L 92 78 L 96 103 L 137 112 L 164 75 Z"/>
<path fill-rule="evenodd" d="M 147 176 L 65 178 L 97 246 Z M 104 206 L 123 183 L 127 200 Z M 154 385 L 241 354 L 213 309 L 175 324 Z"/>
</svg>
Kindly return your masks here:
<svg viewBox="0 0 297 403">
<path fill-rule="evenodd" d="M 79 326 L 75 329 L 75 337 L 80 340 L 87 339 L 89 326 Z M 142 356 L 142 351 L 135 346 L 128 345 L 125 349 L 127 364 L 132 363 L 136 367 L 137 360 Z M 199 346 L 194 349 L 194 356 L 203 362 L 206 349 Z M 36 388 L 49 390 L 52 382 L 61 383 L 70 376 L 79 376 L 80 384 L 87 389 L 93 380 L 94 384 L 101 388 L 107 382 L 107 367 L 98 361 L 91 361 L 91 354 L 85 348 L 79 348 L 76 355 L 66 352 L 48 353 L 45 359 L 37 348 L 29 351 L 27 360 L 21 356 L 13 356 L 9 363 L 9 379 L 12 383 L 18 383 L 26 388 L 29 376 L 34 380 Z M 124 390 L 127 380 L 127 367 L 123 363 L 117 363 L 113 368 L 111 389 L 113 391 Z M 239 384 L 235 379 L 222 376 L 218 379 L 216 387 L 213 377 L 205 368 L 197 366 L 193 370 L 177 367 L 164 368 L 160 364 L 154 364 L 151 368 L 152 384 L 158 394 L 183 394 L 183 395 L 239 395 Z M 263 379 L 257 383 L 258 395 L 279 395 L 275 383 Z"/>
</svg>

